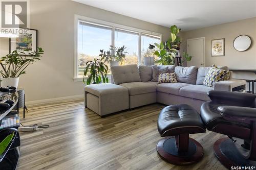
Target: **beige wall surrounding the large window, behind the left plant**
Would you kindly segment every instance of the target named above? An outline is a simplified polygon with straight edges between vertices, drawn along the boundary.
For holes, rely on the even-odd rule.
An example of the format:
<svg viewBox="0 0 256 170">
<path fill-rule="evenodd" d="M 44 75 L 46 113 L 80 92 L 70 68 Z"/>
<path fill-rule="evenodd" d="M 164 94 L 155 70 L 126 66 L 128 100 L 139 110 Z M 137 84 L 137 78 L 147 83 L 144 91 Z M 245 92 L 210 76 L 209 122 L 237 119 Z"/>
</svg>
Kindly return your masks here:
<svg viewBox="0 0 256 170">
<path fill-rule="evenodd" d="M 20 77 L 27 101 L 83 94 L 83 83 L 74 82 L 74 15 L 82 15 L 169 36 L 169 29 L 73 1 L 31 1 L 30 28 L 38 30 L 41 61 Z M 1 56 L 9 52 L 9 40 L 0 39 Z"/>
</svg>

